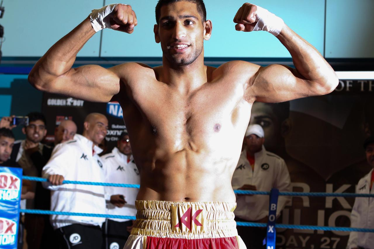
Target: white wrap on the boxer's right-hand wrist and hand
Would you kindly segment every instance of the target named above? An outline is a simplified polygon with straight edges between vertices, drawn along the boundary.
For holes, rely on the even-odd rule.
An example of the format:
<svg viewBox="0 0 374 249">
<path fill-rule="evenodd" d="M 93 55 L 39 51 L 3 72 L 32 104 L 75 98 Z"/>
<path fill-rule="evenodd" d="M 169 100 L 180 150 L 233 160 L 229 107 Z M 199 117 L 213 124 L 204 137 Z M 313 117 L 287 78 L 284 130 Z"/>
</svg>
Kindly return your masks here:
<svg viewBox="0 0 374 249">
<path fill-rule="evenodd" d="M 282 18 L 259 6 L 257 6 L 256 21 L 257 24 L 253 31 L 263 30 L 272 33 L 275 36 L 278 36 L 279 33 L 281 33 L 284 24 Z"/>
</svg>

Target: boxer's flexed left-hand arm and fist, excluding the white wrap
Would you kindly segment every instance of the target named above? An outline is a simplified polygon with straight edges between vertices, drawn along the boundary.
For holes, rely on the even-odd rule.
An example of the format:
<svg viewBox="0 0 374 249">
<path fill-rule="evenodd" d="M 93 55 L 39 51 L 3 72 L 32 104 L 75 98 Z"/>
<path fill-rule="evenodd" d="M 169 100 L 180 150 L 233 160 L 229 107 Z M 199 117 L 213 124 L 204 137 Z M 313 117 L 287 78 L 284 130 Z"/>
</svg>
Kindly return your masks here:
<svg viewBox="0 0 374 249">
<path fill-rule="evenodd" d="M 117 4 L 112 12 L 105 14 L 109 18 L 106 22 L 114 30 L 132 33 L 137 25 L 135 12 L 129 5 Z M 71 68 L 77 53 L 95 32 L 90 18 L 86 18 L 39 59 L 28 76 L 29 82 L 46 92 L 88 101 L 110 101 L 120 89 L 116 67 L 105 69 L 98 65 L 85 65 Z"/>
</svg>

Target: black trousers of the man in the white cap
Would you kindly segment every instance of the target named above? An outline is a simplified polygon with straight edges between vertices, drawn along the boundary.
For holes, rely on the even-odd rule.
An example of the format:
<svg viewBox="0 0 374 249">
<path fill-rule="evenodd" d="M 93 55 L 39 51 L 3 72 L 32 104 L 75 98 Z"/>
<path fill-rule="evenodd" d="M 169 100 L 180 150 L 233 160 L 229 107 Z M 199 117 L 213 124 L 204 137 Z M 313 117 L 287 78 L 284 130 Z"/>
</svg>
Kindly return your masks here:
<svg viewBox="0 0 374 249">
<path fill-rule="evenodd" d="M 235 218 L 235 221 L 248 222 L 244 219 Z M 265 249 L 263 240 L 266 237 L 265 227 L 243 227 L 236 226 L 238 235 L 242 238 L 247 249 Z"/>
</svg>

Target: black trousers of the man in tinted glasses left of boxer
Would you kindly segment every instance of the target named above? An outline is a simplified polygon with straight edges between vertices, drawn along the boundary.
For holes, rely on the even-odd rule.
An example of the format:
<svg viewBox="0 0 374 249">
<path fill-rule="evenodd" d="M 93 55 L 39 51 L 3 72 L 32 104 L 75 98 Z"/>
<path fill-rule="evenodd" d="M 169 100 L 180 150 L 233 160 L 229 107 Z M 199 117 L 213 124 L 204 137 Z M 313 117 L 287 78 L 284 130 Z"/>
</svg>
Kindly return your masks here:
<svg viewBox="0 0 374 249">
<path fill-rule="evenodd" d="M 111 219 L 106 219 L 102 224 L 104 233 L 104 246 L 103 249 L 122 249 L 130 233 L 127 227 L 132 226 L 132 221 L 118 222 Z"/>
</svg>

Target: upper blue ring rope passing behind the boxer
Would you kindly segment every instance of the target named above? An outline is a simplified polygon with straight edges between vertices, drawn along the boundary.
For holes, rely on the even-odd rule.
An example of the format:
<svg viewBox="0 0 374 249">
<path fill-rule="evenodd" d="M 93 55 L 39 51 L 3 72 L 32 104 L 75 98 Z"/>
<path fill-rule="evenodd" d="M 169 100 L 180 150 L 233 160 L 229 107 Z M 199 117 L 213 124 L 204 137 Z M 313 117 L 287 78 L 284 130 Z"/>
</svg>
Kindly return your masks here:
<svg viewBox="0 0 374 249">
<path fill-rule="evenodd" d="M 29 181 L 47 182 L 48 179 L 34 176 L 22 176 L 22 179 Z M 139 184 L 120 184 L 107 182 L 82 182 L 82 181 L 67 181 L 64 180 L 62 184 L 83 184 L 96 185 L 108 187 L 124 187 L 124 188 L 140 188 Z M 234 190 L 236 194 L 261 194 L 269 195 L 270 191 L 253 191 L 253 190 Z M 303 192 L 279 192 L 280 196 L 315 196 L 315 197 L 374 197 L 374 194 L 355 194 L 355 193 L 303 193 Z"/>
</svg>

